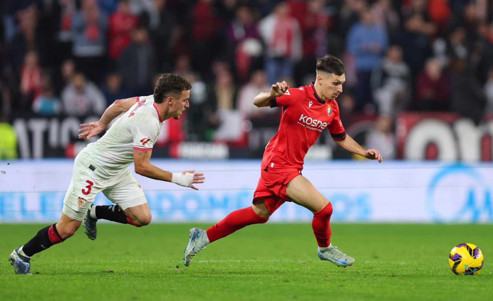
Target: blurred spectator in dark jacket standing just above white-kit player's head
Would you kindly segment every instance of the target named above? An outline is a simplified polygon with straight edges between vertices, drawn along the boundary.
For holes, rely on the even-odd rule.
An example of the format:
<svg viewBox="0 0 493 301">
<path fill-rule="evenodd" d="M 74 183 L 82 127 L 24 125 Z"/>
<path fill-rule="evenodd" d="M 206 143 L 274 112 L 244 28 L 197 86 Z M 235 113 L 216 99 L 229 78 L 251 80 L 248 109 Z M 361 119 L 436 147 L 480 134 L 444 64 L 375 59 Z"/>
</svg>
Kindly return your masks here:
<svg viewBox="0 0 493 301">
<path fill-rule="evenodd" d="M 138 94 L 147 94 L 156 74 L 156 56 L 145 28 L 132 31 L 132 42 L 122 52 L 118 71 L 126 87 L 135 89 Z"/>
</svg>

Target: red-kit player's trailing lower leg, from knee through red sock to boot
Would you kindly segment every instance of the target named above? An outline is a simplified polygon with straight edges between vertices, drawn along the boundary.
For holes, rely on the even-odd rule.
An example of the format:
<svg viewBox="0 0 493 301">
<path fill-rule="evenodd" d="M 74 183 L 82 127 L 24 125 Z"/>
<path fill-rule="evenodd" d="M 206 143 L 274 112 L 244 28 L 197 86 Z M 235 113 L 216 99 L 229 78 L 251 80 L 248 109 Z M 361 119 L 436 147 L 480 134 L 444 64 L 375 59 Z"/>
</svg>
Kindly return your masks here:
<svg viewBox="0 0 493 301">
<path fill-rule="evenodd" d="M 190 229 L 190 234 L 188 235 L 190 239 L 184 251 L 183 264 L 188 267 L 192 258 L 212 241 L 226 237 L 248 225 L 265 223 L 270 216 L 271 214 L 267 210 L 267 206 L 265 206 L 264 199 L 257 198 L 252 206 L 229 213 L 207 231 L 197 227 Z"/>
</svg>

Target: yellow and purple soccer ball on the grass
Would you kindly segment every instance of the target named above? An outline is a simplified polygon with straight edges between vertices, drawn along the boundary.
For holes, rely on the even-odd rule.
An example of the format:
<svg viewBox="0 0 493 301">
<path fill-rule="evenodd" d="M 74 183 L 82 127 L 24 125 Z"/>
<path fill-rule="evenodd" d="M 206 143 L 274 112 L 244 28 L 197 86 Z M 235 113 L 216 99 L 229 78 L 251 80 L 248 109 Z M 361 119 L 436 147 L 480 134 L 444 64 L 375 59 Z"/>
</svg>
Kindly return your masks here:
<svg viewBox="0 0 493 301">
<path fill-rule="evenodd" d="M 483 253 L 472 243 L 461 243 L 450 251 L 449 265 L 456 275 L 476 275 L 483 268 Z"/>
</svg>

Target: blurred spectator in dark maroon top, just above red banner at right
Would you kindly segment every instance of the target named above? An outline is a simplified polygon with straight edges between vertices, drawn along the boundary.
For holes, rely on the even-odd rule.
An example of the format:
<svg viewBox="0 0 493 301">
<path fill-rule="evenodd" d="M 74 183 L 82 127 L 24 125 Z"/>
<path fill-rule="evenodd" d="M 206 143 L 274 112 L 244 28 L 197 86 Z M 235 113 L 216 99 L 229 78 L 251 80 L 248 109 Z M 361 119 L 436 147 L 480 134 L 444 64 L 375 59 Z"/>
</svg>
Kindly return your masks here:
<svg viewBox="0 0 493 301">
<path fill-rule="evenodd" d="M 440 62 L 431 58 L 416 79 L 416 100 L 411 106 L 419 111 L 447 111 L 450 86 L 443 75 Z"/>
</svg>

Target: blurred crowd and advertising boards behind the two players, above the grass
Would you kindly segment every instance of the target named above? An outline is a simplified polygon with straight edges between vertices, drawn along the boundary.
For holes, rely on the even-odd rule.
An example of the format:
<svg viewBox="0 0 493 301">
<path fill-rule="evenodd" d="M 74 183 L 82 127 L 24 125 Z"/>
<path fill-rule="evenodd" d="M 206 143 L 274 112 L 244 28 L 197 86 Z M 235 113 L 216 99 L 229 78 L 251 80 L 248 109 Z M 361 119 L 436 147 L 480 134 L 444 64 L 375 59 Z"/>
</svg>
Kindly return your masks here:
<svg viewBox="0 0 493 301">
<path fill-rule="evenodd" d="M 347 132 L 385 160 L 360 161 L 322 133 L 303 173 L 334 220 L 493 222 L 490 0 L 3 0 L 0 12 L 0 222 L 56 220 L 87 144 L 79 124 L 152 94 L 165 72 L 193 88 L 153 162 L 208 178 L 195 192 L 138 176 L 153 219 L 245 207 L 279 125 L 253 97 L 309 84 L 326 53 L 346 65 Z M 287 204 L 272 219 L 310 215 Z"/>
</svg>

